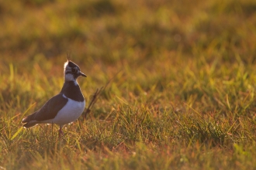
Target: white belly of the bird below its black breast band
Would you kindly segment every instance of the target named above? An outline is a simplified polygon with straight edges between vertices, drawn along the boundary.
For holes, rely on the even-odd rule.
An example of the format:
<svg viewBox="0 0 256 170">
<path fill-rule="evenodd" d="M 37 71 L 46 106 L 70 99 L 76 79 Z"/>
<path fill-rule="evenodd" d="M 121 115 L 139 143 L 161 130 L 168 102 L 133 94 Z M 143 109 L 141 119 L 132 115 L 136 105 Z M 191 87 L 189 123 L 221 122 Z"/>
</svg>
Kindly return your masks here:
<svg viewBox="0 0 256 170">
<path fill-rule="evenodd" d="M 85 100 L 78 102 L 68 99 L 67 104 L 61 110 L 59 110 L 54 119 L 50 120 L 50 123 L 59 125 L 69 124 L 76 121 L 84 110 Z"/>
</svg>

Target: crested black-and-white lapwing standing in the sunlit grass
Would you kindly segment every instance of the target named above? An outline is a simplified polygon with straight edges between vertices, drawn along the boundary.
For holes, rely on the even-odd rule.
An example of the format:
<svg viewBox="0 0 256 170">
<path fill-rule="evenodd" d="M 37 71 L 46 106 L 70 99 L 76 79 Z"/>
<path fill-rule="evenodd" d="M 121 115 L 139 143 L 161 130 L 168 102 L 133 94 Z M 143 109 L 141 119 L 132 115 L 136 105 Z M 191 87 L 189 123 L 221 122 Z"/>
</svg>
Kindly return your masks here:
<svg viewBox="0 0 256 170">
<path fill-rule="evenodd" d="M 79 66 L 67 59 L 64 63 L 64 85 L 61 92 L 47 100 L 43 107 L 22 119 L 23 128 L 37 124 L 57 124 L 60 126 L 59 138 L 63 135 L 65 124 L 76 121 L 85 109 L 85 97 L 81 93 L 77 79 L 84 76 Z"/>
</svg>

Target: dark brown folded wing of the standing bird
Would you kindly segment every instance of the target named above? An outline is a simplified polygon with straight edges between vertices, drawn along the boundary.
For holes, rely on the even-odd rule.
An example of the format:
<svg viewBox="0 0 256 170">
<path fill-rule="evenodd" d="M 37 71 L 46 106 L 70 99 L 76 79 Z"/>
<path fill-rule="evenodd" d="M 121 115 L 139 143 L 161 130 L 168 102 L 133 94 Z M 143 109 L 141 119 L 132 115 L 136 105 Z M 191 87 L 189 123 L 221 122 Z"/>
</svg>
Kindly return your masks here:
<svg viewBox="0 0 256 170">
<path fill-rule="evenodd" d="M 25 117 L 22 120 L 22 123 L 26 123 L 29 121 L 46 121 L 54 118 L 57 115 L 57 112 L 67 104 L 67 98 L 63 97 L 62 93 L 57 94 L 56 96 L 50 98 L 43 105 L 40 110 L 37 110 L 35 113 L 30 114 L 28 117 Z"/>
</svg>

